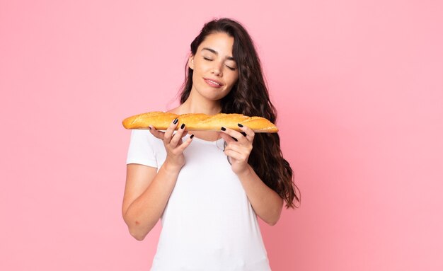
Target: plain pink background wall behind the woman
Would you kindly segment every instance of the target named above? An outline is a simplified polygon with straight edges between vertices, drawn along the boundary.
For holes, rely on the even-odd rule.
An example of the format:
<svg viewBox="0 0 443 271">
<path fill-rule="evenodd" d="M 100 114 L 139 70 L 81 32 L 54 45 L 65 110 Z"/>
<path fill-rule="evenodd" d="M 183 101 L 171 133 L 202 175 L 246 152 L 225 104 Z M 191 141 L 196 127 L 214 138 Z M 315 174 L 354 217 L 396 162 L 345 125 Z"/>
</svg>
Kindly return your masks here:
<svg viewBox="0 0 443 271">
<path fill-rule="evenodd" d="M 219 16 L 256 42 L 301 189 L 260 221 L 272 270 L 443 270 L 443 4 L 364 2 L 1 1 L 0 270 L 149 270 L 121 121 L 177 105 Z"/>
</svg>

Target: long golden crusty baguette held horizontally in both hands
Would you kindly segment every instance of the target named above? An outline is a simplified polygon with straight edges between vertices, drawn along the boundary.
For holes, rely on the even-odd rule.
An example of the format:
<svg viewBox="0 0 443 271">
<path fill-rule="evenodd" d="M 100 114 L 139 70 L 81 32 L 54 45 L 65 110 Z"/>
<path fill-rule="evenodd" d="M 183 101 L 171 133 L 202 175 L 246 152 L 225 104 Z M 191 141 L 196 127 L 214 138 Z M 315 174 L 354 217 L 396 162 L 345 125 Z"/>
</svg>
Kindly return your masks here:
<svg viewBox="0 0 443 271">
<path fill-rule="evenodd" d="M 176 115 L 173 113 L 154 111 L 127 117 L 123 120 L 123 127 L 126 129 L 149 129 L 149 125 L 152 125 L 158 130 L 166 130 L 176 117 L 178 117 L 176 130 L 180 128 L 181 123 L 184 123 L 186 125 L 185 129 L 188 131 L 219 131 L 223 126 L 242 132 L 237 125 L 237 123 L 240 123 L 253 129 L 254 132 L 278 132 L 277 126 L 264 117 L 248 117 L 242 114 L 225 113 L 216 115 L 201 113 Z"/>
</svg>

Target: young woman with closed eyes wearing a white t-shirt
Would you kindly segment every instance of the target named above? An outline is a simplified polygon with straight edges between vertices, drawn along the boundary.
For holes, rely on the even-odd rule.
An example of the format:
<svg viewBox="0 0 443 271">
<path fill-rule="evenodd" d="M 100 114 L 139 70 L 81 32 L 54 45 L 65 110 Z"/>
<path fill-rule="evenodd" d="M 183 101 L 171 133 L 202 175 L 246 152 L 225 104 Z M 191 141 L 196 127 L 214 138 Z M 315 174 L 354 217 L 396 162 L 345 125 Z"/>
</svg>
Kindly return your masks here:
<svg viewBox="0 0 443 271">
<path fill-rule="evenodd" d="M 180 106 L 168 111 L 239 113 L 275 123 L 277 112 L 253 41 L 229 18 L 210 21 L 190 45 Z M 277 133 L 132 129 L 122 215 L 141 241 L 161 219 L 151 270 L 270 270 L 257 216 L 275 225 L 296 207 L 293 171 Z"/>
</svg>

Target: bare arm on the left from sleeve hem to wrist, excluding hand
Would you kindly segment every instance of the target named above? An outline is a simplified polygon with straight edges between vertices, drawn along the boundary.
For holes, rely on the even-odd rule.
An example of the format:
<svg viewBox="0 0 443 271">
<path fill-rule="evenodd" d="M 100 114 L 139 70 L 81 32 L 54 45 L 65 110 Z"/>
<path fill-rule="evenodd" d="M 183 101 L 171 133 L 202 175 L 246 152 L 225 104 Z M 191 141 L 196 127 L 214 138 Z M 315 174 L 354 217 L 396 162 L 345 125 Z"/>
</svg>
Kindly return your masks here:
<svg viewBox="0 0 443 271">
<path fill-rule="evenodd" d="M 180 168 L 168 167 L 165 162 L 157 169 L 128 164 L 122 215 L 134 238 L 142 241 L 159 221 L 171 192 L 176 185 Z"/>
</svg>

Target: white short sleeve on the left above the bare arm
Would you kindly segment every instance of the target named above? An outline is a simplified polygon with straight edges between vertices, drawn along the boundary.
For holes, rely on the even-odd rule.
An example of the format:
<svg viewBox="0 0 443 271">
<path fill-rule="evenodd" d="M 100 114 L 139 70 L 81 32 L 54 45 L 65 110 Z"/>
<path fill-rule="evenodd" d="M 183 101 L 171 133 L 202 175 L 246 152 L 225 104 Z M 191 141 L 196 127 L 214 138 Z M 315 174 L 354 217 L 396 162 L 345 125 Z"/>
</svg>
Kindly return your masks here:
<svg viewBox="0 0 443 271">
<path fill-rule="evenodd" d="M 149 130 L 132 129 L 130 146 L 127 150 L 126 163 L 139 163 L 145 166 L 157 167 L 154 149 L 149 142 Z"/>
</svg>

